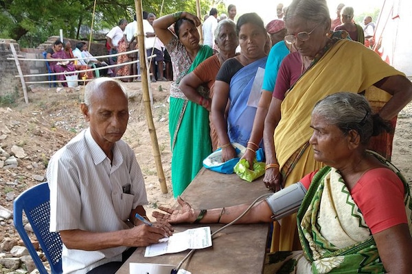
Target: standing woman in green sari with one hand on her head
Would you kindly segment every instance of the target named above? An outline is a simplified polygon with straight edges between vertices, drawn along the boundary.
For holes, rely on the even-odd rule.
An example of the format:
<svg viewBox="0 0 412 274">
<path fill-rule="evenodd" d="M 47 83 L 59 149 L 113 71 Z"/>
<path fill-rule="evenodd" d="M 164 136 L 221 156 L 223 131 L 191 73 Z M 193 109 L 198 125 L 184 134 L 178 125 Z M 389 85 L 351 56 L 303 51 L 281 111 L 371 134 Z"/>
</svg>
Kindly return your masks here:
<svg viewBox="0 0 412 274">
<path fill-rule="evenodd" d="M 170 26 L 174 24 L 174 35 Z M 198 92 L 205 97 L 194 103 L 180 90 L 179 83 L 198 64 L 213 54 L 209 46 L 199 45 L 196 27 L 199 18 L 188 12 L 176 12 L 153 21 L 153 29 L 172 58 L 174 82 L 170 86 L 169 131 L 172 148 L 172 186 L 174 197 L 181 195 L 202 168 L 211 153 L 209 136 L 209 90 Z"/>
</svg>

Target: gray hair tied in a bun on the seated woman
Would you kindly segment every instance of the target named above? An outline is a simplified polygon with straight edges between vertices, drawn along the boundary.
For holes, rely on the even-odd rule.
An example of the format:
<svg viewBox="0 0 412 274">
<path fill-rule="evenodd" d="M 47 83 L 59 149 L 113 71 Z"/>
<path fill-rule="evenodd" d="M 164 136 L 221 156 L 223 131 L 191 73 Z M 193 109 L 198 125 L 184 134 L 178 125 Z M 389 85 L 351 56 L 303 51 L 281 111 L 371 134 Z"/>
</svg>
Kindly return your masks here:
<svg viewBox="0 0 412 274">
<path fill-rule="evenodd" d="M 363 145 L 367 145 L 371 136 L 392 131 L 389 121 L 372 113 L 371 106 L 363 95 L 352 92 L 328 95 L 314 105 L 312 115 L 314 114 L 321 116 L 330 125 L 339 127 L 343 134 L 350 130 L 358 132 Z"/>
</svg>

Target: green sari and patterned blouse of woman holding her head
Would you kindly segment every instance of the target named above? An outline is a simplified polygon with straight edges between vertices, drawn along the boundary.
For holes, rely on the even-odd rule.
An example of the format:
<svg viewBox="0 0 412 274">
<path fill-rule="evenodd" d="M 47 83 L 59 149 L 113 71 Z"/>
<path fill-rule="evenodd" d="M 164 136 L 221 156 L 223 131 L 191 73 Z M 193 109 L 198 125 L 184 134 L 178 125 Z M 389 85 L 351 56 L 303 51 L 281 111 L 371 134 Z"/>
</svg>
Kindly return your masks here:
<svg viewBox="0 0 412 274">
<path fill-rule="evenodd" d="M 169 131 L 172 149 L 172 187 L 174 197 L 181 195 L 202 168 L 203 159 L 211 153 L 209 112 L 185 97 L 179 89 L 181 79 L 209 58 L 213 50 L 201 45 L 193 62 L 187 50 L 174 37 L 166 45 L 172 58 L 175 81 L 170 87 Z M 209 90 L 198 90 L 208 97 Z"/>
</svg>

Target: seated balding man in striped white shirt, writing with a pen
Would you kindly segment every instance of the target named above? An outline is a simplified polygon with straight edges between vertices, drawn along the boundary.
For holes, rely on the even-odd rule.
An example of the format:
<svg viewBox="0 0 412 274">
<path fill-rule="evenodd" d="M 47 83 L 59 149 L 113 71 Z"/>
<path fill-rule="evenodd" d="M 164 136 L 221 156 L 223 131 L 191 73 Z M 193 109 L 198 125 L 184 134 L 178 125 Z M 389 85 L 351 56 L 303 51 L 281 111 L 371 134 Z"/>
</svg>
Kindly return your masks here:
<svg viewBox="0 0 412 274">
<path fill-rule="evenodd" d="M 115 273 L 133 252 L 170 236 L 168 223 L 145 225 L 148 203 L 134 151 L 121 140 L 128 97 L 108 77 L 86 86 L 81 110 L 89 128 L 50 159 L 50 231 L 60 232 L 63 273 Z"/>
</svg>

